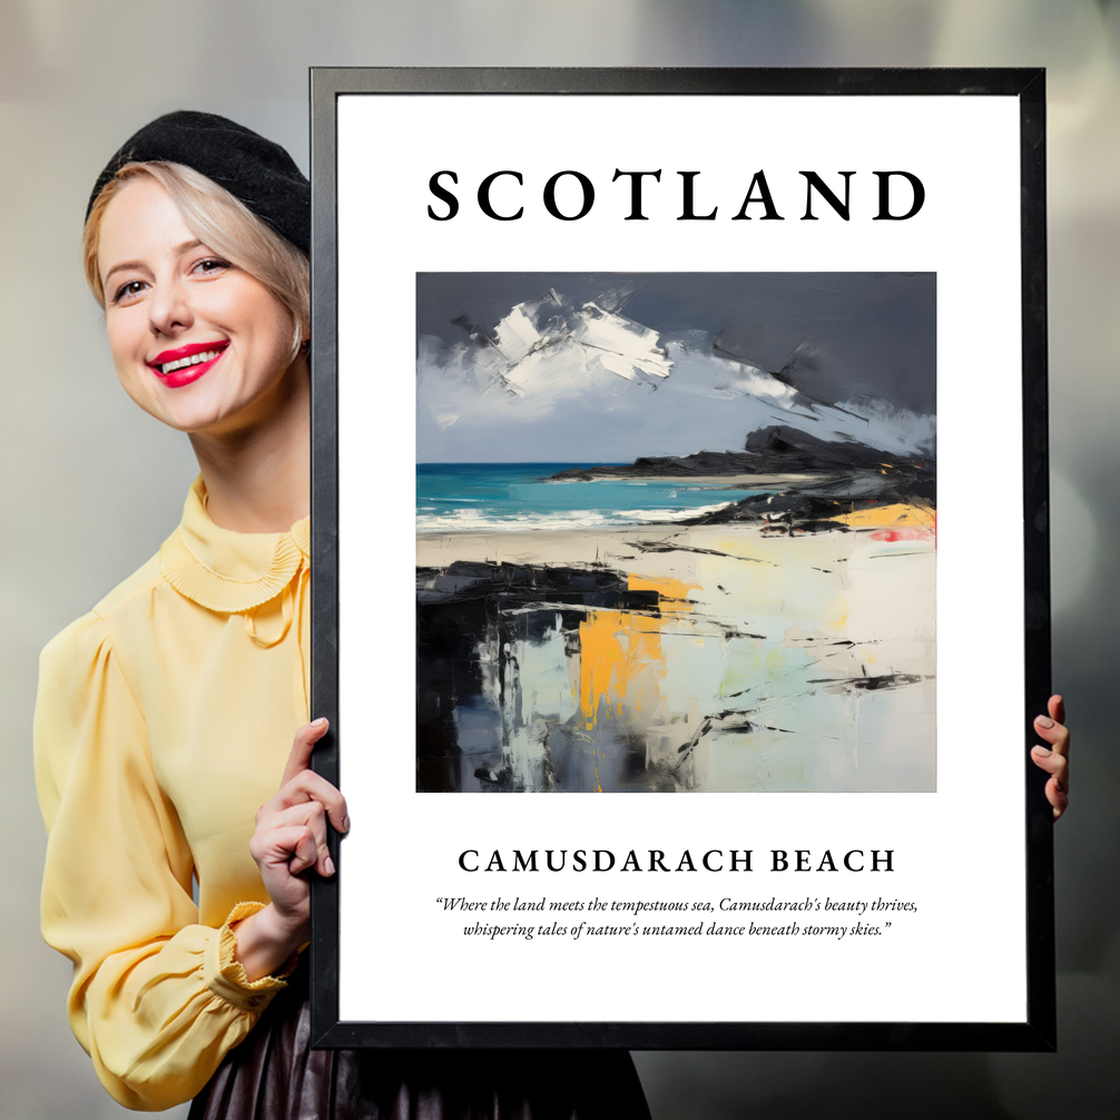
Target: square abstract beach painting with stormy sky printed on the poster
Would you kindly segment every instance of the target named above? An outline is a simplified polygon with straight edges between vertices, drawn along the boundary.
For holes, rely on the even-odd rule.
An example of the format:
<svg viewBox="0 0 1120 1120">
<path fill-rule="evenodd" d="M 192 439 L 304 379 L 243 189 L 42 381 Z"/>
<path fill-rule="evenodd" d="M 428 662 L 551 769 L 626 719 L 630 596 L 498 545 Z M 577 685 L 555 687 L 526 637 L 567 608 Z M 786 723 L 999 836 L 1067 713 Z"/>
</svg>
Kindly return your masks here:
<svg viewBox="0 0 1120 1120">
<path fill-rule="evenodd" d="M 936 788 L 932 273 L 417 277 L 417 790 Z"/>
</svg>

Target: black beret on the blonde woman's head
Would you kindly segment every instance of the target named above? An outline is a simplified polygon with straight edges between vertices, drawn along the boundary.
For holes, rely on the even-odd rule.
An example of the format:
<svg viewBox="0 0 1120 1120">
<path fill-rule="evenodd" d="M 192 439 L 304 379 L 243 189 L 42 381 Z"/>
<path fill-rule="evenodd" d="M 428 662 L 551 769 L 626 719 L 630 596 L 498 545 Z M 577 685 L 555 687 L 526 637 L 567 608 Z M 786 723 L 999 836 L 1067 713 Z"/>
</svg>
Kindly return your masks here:
<svg viewBox="0 0 1120 1120">
<path fill-rule="evenodd" d="M 184 164 L 213 179 L 282 237 L 310 252 L 311 185 L 307 177 L 280 144 L 214 113 L 167 113 L 125 140 L 97 176 L 85 216 L 102 187 L 125 164 L 156 160 Z"/>
</svg>

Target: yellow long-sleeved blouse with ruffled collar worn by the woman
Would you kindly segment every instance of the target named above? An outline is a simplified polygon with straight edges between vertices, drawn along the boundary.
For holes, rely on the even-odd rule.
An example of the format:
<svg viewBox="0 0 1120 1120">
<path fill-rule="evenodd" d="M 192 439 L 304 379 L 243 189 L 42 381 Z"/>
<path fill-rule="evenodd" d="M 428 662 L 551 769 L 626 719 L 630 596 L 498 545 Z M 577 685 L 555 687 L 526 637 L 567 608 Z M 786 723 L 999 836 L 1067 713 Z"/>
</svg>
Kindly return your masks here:
<svg viewBox="0 0 1120 1120">
<path fill-rule="evenodd" d="M 205 502 L 199 478 L 159 554 L 40 662 L 43 934 L 74 962 L 74 1034 L 132 1109 L 198 1093 L 283 987 L 248 981 L 230 923 L 268 902 L 253 816 L 307 720 L 309 523 L 234 533 Z"/>
</svg>

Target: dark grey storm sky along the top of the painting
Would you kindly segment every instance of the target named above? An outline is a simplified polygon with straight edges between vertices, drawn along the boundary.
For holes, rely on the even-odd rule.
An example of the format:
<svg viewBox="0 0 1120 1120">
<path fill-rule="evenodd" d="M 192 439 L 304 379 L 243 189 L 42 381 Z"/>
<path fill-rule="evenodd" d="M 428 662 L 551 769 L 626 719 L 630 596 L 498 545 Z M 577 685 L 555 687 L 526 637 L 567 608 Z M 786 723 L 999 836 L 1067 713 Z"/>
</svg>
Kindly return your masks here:
<svg viewBox="0 0 1120 1120">
<path fill-rule="evenodd" d="M 421 273 L 417 328 L 454 343 L 451 319 L 492 328 L 556 288 L 579 306 L 633 282 L 622 309 L 665 335 L 702 330 L 731 355 L 829 402 L 878 396 L 936 410 L 936 276 L 866 272 Z"/>
</svg>

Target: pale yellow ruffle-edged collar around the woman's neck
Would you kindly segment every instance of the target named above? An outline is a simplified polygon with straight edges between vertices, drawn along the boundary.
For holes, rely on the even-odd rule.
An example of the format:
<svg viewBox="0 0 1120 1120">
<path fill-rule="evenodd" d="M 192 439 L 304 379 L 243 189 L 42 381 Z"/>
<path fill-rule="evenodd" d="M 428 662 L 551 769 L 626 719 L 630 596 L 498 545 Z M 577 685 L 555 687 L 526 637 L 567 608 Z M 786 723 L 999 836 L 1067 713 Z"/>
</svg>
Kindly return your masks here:
<svg viewBox="0 0 1120 1120">
<path fill-rule="evenodd" d="M 276 598 L 311 551 L 309 517 L 287 533 L 235 533 L 206 513 L 199 475 L 187 494 L 179 528 L 159 550 L 159 570 L 180 595 L 207 610 L 240 614 Z"/>
</svg>

